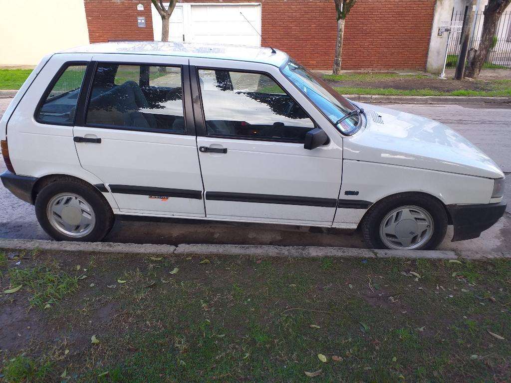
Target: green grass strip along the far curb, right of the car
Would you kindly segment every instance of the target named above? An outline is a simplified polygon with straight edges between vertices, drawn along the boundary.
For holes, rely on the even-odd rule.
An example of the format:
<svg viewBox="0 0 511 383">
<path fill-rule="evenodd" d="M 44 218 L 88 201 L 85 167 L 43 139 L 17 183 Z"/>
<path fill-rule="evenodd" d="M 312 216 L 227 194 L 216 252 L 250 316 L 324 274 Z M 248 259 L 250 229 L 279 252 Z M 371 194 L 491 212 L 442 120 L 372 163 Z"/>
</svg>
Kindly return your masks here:
<svg viewBox="0 0 511 383">
<path fill-rule="evenodd" d="M 509 80 L 503 80 L 509 81 Z M 433 89 L 402 90 L 393 88 L 335 87 L 341 94 L 399 95 L 399 96 L 466 96 L 466 97 L 511 97 L 511 87 L 498 90 L 453 90 L 443 92 Z"/>
</svg>

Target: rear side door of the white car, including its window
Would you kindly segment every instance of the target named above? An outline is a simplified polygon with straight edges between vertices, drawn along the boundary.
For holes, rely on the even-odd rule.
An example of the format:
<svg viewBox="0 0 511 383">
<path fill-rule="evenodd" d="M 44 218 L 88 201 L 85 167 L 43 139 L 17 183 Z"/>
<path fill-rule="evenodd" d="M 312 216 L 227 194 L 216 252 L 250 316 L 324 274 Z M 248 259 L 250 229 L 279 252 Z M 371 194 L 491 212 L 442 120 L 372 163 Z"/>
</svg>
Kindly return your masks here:
<svg viewBox="0 0 511 383">
<path fill-rule="evenodd" d="M 104 182 L 122 213 L 204 217 L 188 59 L 92 60 L 74 128 L 82 167 Z"/>
</svg>

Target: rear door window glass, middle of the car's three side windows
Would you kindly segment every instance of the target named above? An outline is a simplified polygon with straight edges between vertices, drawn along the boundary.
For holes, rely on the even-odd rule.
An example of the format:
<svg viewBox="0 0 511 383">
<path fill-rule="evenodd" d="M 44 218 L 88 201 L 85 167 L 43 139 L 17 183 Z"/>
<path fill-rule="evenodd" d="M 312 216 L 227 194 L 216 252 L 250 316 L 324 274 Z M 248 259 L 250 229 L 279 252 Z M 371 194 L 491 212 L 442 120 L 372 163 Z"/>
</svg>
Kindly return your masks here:
<svg viewBox="0 0 511 383">
<path fill-rule="evenodd" d="M 87 125 L 185 133 L 181 68 L 98 64 Z"/>
</svg>

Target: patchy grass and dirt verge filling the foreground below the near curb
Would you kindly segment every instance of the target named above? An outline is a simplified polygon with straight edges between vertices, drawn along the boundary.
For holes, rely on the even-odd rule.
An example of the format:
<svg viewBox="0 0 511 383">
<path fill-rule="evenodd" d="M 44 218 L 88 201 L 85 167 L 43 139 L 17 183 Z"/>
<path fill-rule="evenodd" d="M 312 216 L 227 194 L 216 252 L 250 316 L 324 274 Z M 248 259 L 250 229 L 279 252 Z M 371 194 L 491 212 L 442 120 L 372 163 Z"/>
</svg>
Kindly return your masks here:
<svg viewBox="0 0 511 383">
<path fill-rule="evenodd" d="M 0 339 L 19 334 L 3 347 L 0 373 L 18 376 L 9 383 L 30 381 L 7 374 L 17 357 L 48 371 L 40 382 L 511 379 L 510 260 L 42 252 L 17 269 L 58 264 L 71 275 L 78 262 L 87 277 L 60 305 L 30 313 L 33 332 L 27 291 L 0 295 L 18 313 L 0 329 Z"/>
</svg>

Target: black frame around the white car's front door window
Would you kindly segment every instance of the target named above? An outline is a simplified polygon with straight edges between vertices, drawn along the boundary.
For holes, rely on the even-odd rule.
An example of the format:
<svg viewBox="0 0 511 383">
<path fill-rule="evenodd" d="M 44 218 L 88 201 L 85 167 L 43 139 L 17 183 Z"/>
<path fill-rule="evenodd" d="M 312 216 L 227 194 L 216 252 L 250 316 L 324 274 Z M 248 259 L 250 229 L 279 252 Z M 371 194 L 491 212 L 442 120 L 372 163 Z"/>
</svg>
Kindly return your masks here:
<svg viewBox="0 0 511 383">
<path fill-rule="evenodd" d="M 192 69 L 193 69 L 193 71 L 192 71 Z M 221 66 L 203 66 L 203 65 L 198 65 L 197 66 L 197 65 L 191 65 L 190 66 L 190 70 L 191 70 L 191 73 L 192 73 L 192 77 L 194 78 L 194 81 L 192 82 L 192 84 L 195 84 L 195 86 L 197 88 L 197 89 L 195 89 L 195 92 L 194 92 L 194 89 L 193 89 L 194 87 L 192 86 L 192 97 L 193 97 L 193 100 L 194 100 L 194 107 L 196 106 L 197 109 L 200 111 L 199 123 L 202 125 L 202 126 L 200 126 L 200 130 L 197 129 L 198 133 L 201 133 L 202 135 L 198 134 L 198 136 L 201 136 L 201 137 L 228 138 L 228 139 L 244 139 L 244 140 L 253 140 L 253 141 L 293 142 L 293 143 L 302 143 L 302 144 L 305 143 L 305 141 L 288 140 L 286 138 L 281 138 L 281 139 L 275 139 L 274 137 L 254 138 L 254 137 L 250 137 L 250 136 L 207 134 L 207 130 L 206 130 L 206 117 L 205 117 L 205 114 L 204 114 L 204 107 L 203 107 L 204 104 L 203 104 L 202 93 L 201 93 L 201 89 L 200 89 L 200 85 L 199 85 L 200 84 L 200 82 L 199 82 L 199 69 L 205 69 L 205 70 L 226 70 L 226 71 L 229 71 L 229 72 L 254 73 L 254 74 L 259 74 L 259 75 L 267 76 L 271 80 L 273 80 L 275 82 L 275 84 L 277 84 L 288 95 L 288 97 L 291 100 L 293 100 L 296 103 L 296 105 L 298 105 L 304 111 L 305 114 L 307 114 L 309 119 L 312 121 L 312 124 L 314 125 L 314 128 L 312 128 L 312 129 L 315 129 L 315 128 L 320 128 L 321 129 L 321 127 L 316 123 L 314 118 L 311 117 L 311 115 L 307 112 L 307 110 L 305 110 L 305 108 L 303 106 L 301 106 L 301 104 L 298 101 L 296 101 L 291 94 L 289 94 L 289 92 L 286 90 L 286 88 L 284 86 L 282 86 L 282 84 L 280 82 L 278 82 L 268 72 L 265 72 L 265 71 L 262 71 L 262 70 L 252 70 L 252 69 L 225 68 L 225 67 L 221 67 Z M 195 108 L 194 108 L 194 112 L 196 112 Z M 196 123 L 197 123 L 197 114 L 195 114 L 195 115 L 196 115 Z M 325 132 L 325 133 L 327 133 L 327 132 Z"/>
</svg>

